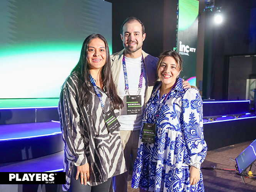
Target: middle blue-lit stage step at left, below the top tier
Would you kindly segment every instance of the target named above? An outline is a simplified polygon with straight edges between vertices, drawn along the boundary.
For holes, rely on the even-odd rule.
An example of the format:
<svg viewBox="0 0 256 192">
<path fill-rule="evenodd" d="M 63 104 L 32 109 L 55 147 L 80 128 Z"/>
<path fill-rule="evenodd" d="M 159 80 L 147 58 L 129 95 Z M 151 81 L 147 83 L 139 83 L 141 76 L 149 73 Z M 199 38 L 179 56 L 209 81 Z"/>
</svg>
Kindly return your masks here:
<svg viewBox="0 0 256 192">
<path fill-rule="evenodd" d="M 0 163 L 47 156 L 63 149 L 59 122 L 0 125 Z"/>
</svg>

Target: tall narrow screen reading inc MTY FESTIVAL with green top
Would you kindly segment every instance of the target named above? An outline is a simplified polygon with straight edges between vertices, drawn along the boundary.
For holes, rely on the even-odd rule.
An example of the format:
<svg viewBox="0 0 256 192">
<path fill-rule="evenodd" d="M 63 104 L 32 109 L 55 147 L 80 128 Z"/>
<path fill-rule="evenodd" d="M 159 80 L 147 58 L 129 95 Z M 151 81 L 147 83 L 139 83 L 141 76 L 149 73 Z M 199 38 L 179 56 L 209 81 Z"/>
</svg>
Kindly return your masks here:
<svg viewBox="0 0 256 192">
<path fill-rule="evenodd" d="M 177 52 L 183 60 L 180 76 L 196 86 L 198 0 L 179 0 Z"/>
</svg>

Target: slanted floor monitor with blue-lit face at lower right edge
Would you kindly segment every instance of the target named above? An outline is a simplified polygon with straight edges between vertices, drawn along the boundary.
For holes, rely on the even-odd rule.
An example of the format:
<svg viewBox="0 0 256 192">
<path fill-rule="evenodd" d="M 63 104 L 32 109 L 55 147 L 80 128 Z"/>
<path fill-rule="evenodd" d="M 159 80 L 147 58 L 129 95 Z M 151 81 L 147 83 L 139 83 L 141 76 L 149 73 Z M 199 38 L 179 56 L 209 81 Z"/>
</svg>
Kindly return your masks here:
<svg viewBox="0 0 256 192">
<path fill-rule="evenodd" d="M 251 167 L 253 163 L 256 161 L 256 139 L 244 149 L 241 154 L 236 157 L 236 164 L 238 166 L 239 175 L 248 176 L 246 169 Z M 249 171 L 250 171 L 249 170 Z"/>
</svg>

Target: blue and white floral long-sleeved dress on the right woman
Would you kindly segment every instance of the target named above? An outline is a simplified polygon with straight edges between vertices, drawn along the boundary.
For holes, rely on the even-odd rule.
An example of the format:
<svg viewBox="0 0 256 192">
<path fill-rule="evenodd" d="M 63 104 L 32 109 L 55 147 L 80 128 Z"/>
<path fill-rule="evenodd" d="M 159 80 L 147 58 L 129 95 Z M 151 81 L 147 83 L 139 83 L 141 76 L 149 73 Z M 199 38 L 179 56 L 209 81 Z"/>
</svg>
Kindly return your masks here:
<svg viewBox="0 0 256 192">
<path fill-rule="evenodd" d="M 200 181 L 196 185 L 189 183 L 189 167 L 201 164 L 207 151 L 201 96 L 194 88 L 183 89 L 181 78 L 167 97 L 165 94 L 159 98 L 160 87 L 161 83 L 152 91 L 142 121 L 142 126 L 144 122 L 157 124 L 155 143 L 141 141 L 141 126 L 132 187 L 155 192 L 203 192 L 201 170 Z"/>
</svg>

